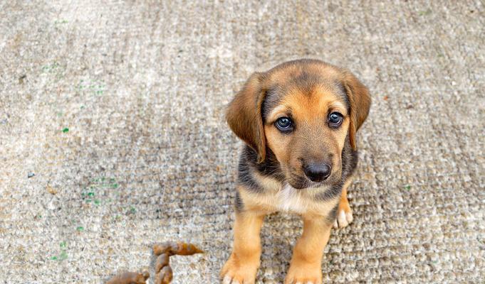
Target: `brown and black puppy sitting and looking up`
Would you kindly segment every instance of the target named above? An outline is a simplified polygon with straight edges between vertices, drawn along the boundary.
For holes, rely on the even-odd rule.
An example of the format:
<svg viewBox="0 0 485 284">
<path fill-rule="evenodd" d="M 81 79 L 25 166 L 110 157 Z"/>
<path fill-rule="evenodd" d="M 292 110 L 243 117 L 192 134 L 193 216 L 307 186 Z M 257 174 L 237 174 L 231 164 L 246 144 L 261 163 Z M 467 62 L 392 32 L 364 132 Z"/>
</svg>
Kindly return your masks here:
<svg viewBox="0 0 485 284">
<path fill-rule="evenodd" d="M 254 283 L 261 225 L 276 211 L 303 217 L 285 283 L 321 283 L 330 228 L 352 222 L 347 188 L 357 165 L 355 133 L 369 108 L 367 88 L 354 75 L 319 60 L 251 75 L 226 114 L 246 146 L 224 283 Z"/>
</svg>

